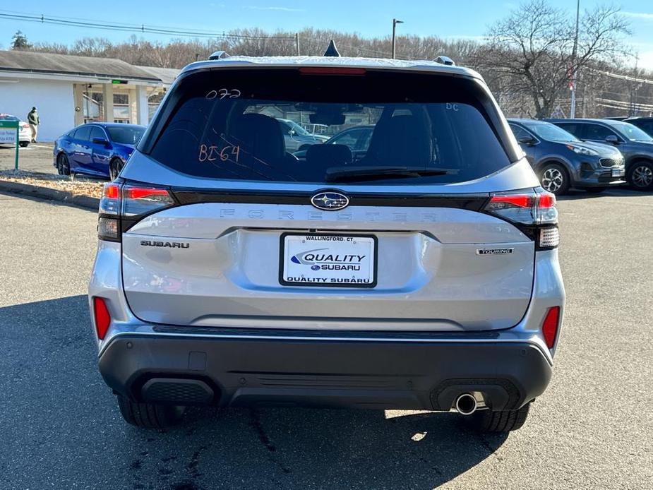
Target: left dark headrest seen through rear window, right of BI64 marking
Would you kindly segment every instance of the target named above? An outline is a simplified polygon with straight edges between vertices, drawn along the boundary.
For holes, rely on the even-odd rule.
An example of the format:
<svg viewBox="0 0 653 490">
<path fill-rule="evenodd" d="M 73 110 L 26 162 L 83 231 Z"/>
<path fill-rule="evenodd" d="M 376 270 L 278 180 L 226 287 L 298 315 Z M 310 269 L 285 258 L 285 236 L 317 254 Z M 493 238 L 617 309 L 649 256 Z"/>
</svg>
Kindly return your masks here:
<svg viewBox="0 0 653 490">
<path fill-rule="evenodd" d="M 277 119 L 264 114 L 243 114 L 236 119 L 229 131 L 229 136 L 241 145 L 242 153 L 248 153 L 260 160 L 277 160 L 285 156 L 281 126 Z"/>
</svg>

